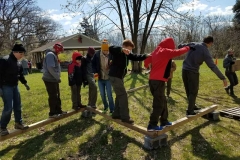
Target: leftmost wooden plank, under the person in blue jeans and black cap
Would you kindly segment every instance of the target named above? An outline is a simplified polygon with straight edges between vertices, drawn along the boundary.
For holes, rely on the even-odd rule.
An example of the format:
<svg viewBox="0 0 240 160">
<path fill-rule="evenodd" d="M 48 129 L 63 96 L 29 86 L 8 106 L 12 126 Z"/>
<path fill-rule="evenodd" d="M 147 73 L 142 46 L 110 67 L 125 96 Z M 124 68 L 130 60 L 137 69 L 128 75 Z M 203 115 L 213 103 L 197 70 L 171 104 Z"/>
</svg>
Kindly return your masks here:
<svg viewBox="0 0 240 160">
<path fill-rule="evenodd" d="M 14 136 L 17 136 L 17 135 L 19 135 L 19 134 L 24 134 L 24 133 L 26 133 L 26 132 L 29 132 L 29 131 L 33 130 L 33 129 L 36 129 L 36 128 L 45 126 L 45 125 L 47 125 L 47 124 L 50 124 L 50 123 L 53 123 L 53 122 L 62 120 L 62 119 L 64 119 L 64 118 L 67 118 L 67 117 L 69 117 L 69 116 L 72 116 L 72 115 L 74 115 L 74 114 L 76 114 L 76 113 L 78 113 L 78 112 L 82 112 L 82 111 L 84 111 L 84 110 L 85 110 L 85 108 L 81 108 L 81 109 L 78 110 L 78 111 L 71 110 L 71 111 L 69 111 L 67 114 L 62 115 L 62 116 L 60 116 L 60 117 L 58 117 L 58 118 L 48 118 L 48 119 L 46 119 L 46 120 L 42 120 L 42 121 L 40 121 L 40 122 L 36 122 L 36 123 L 34 123 L 34 124 L 31 124 L 31 125 L 29 125 L 29 128 L 28 128 L 28 129 L 25 129 L 25 130 L 20 130 L 20 129 L 11 130 L 8 135 L 0 136 L 0 142 L 2 142 L 2 141 L 4 141 L 4 140 L 7 140 L 7 139 L 9 139 L 9 138 L 12 138 L 12 137 L 14 137 Z"/>
</svg>

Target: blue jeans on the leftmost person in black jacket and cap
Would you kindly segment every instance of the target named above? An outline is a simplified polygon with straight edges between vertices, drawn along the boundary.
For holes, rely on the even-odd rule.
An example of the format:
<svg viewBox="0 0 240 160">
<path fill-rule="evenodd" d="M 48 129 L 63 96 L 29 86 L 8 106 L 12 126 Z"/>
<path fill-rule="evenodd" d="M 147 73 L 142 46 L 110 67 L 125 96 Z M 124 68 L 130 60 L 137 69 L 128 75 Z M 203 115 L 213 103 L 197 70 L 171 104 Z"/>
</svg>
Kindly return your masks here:
<svg viewBox="0 0 240 160">
<path fill-rule="evenodd" d="M 7 128 L 7 125 L 11 119 L 12 110 L 14 112 L 15 122 L 22 123 L 22 105 L 21 97 L 18 90 L 18 86 L 6 86 L 2 87 L 3 91 L 3 103 L 4 108 L 1 116 L 1 128 Z"/>
</svg>

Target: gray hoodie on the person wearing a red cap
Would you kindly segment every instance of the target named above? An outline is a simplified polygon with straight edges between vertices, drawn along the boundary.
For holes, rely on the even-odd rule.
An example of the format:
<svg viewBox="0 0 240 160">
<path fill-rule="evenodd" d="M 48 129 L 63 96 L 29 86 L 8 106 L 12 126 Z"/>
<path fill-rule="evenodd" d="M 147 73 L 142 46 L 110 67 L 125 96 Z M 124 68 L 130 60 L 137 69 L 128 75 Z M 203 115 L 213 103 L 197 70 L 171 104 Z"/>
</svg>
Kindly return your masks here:
<svg viewBox="0 0 240 160">
<path fill-rule="evenodd" d="M 60 82 L 61 68 L 53 51 L 47 52 L 43 60 L 43 81 Z"/>
</svg>

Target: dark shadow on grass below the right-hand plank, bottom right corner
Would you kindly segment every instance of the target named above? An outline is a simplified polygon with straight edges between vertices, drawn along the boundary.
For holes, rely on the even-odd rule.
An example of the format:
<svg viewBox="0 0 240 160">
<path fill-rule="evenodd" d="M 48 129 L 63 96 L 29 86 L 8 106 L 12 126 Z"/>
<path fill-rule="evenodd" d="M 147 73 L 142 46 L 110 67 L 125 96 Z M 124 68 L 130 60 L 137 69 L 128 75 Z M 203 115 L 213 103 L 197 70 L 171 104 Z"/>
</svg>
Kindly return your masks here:
<svg viewBox="0 0 240 160">
<path fill-rule="evenodd" d="M 187 136 L 192 135 L 191 145 L 193 147 L 192 152 L 193 155 L 199 157 L 200 159 L 211 159 L 211 160 L 238 160 L 240 157 L 231 158 L 228 155 L 219 154 L 219 151 L 214 149 L 211 144 L 202 136 L 200 133 L 200 129 L 208 126 L 209 124 L 215 123 L 218 121 L 207 121 L 192 130 L 185 132 L 182 135 L 177 136 L 174 131 L 170 131 L 171 134 L 175 136 L 175 138 L 168 141 L 169 147 L 171 147 L 174 143 L 179 142 L 180 140 L 185 139 Z M 168 149 L 168 147 L 166 148 Z"/>
</svg>

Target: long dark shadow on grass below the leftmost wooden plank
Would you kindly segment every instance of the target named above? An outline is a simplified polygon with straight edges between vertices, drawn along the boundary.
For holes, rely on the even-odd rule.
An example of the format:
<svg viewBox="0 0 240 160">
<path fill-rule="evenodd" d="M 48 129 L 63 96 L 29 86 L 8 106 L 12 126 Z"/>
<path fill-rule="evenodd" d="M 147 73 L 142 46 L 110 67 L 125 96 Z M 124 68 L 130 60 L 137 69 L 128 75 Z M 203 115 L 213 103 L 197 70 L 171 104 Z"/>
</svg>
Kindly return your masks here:
<svg viewBox="0 0 240 160">
<path fill-rule="evenodd" d="M 54 128 L 52 131 L 47 131 L 42 135 L 35 136 L 31 139 L 26 139 L 23 142 L 20 142 L 18 145 L 10 145 L 0 151 L 0 156 L 3 156 L 8 152 L 11 152 L 11 150 L 15 149 L 18 150 L 18 152 L 13 156 L 13 160 L 31 159 L 39 153 L 40 154 L 38 157 L 45 157 L 52 151 L 56 150 L 56 148 L 50 147 L 47 151 L 44 152 L 43 148 L 48 145 L 48 143 L 64 144 L 68 141 L 66 135 L 79 137 L 84 134 L 84 130 L 92 126 L 93 123 L 93 120 L 88 120 L 88 123 L 86 123 L 85 120 L 79 119 L 70 121 L 64 125 Z"/>
</svg>

